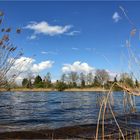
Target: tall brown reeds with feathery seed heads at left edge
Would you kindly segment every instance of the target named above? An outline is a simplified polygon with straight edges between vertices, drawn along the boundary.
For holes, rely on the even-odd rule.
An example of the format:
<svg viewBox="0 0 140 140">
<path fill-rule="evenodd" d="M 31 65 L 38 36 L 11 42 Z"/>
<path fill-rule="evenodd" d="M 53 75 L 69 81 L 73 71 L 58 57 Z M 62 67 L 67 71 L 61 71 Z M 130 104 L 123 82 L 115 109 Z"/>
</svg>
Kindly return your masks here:
<svg viewBox="0 0 140 140">
<path fill-rule="evenodd" d="M 22 55 L 21 51 L 17 52 L 15 46 L 10 40 L 10 33 L 12 28 L 3 28 L 4 13 L 0 11 L 0 87 L 5 87 L 9 81 L 13 81 L 18 75 L 16 72 L 7 78 L 7 74 L 15 61 Z M 15 33 L 19 34 L 20 29 L 16 29 Z"/>
</svg>

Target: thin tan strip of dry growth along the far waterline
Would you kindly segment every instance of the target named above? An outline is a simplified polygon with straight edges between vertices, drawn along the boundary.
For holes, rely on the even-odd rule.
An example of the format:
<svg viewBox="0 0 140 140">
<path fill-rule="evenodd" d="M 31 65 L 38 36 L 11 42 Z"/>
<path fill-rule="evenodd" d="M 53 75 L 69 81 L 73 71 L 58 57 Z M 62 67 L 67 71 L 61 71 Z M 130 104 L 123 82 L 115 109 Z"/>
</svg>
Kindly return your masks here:
<svg viewBox="0 0 140 140">
<path fill-rule="evenodd" d="M 57 91 L 56 89 L 52 89 L 52 88 L 12 88 L 10 90 L 7 89 L 0 89 L 0 92 L 4 92 L 4 91 L 13 91 L 13 92 L 51 92 L 51 91 Z M 64 91 L 67 92 L 85 92 L 85 91 L 108 91 L 106 89 L 103 88 L 70 88 L 70 89 L 65 89 Z"/>
</svg>

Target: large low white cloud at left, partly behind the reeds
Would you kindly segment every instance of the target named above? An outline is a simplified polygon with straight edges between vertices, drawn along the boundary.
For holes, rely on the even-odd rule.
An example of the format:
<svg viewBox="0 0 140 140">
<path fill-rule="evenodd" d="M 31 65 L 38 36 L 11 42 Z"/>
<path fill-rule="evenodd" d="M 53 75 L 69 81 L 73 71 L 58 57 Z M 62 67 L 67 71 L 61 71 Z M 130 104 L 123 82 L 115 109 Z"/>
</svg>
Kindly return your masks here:
<svg viewBox="0 0 140 140">
<path fill-rule="evenodd" d="M 16 78 L 16 81 L 22 80 L 25 77 L 28 77 L 28 74 L 36 75 L 48 68 L 53 66 L 53 61 L 47 60 L 40 63 L 35 63 L 36 60 L 30 57 L 20 57 L 17 59 L 9 71 L 9 75 L 19 73 L 19 76 Z"/>
</svg>

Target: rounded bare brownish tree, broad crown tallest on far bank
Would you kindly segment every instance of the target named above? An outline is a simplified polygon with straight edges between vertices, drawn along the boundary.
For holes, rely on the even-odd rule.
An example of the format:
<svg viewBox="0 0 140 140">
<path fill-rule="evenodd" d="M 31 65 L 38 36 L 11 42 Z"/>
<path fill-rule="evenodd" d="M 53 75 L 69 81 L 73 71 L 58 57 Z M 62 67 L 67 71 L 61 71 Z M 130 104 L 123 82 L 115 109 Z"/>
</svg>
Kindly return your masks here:
<svg viewBox="0 0 140 140">
<path fill-rule="evenodd" d="M 96 70 L 96 73 L 95 73 L 96 77 L 97 77 L 97 80 L 98 82 L 101 84 L 101 85 L 104 85 L 107 81 L 109 81 L 109 74 L 106 70 Z"/>
</svg>

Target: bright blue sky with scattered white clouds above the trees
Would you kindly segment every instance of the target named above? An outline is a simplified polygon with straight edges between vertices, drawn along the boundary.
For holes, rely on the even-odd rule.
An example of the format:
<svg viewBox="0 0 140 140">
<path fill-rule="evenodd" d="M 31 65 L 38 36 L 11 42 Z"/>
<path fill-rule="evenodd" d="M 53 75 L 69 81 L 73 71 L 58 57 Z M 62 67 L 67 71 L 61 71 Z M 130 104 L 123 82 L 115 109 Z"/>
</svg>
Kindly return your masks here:
<svg viewBox="0 0 140 140">
<path fill-rule="evenodd" d="M 51 72 L 53 79 L 69 71 L 127 71 L 126 41 L 134 26 L 120 6 L 139 28 L 140 2 L 0 2 L 5 26 L 22 29 L 18 36 L 11 33 L 24 52 L 18 61 L 29 62 L 22 69 L 42 76 Z M 139 55 L 139 40 L 133 40 Z"/>
</svg>

